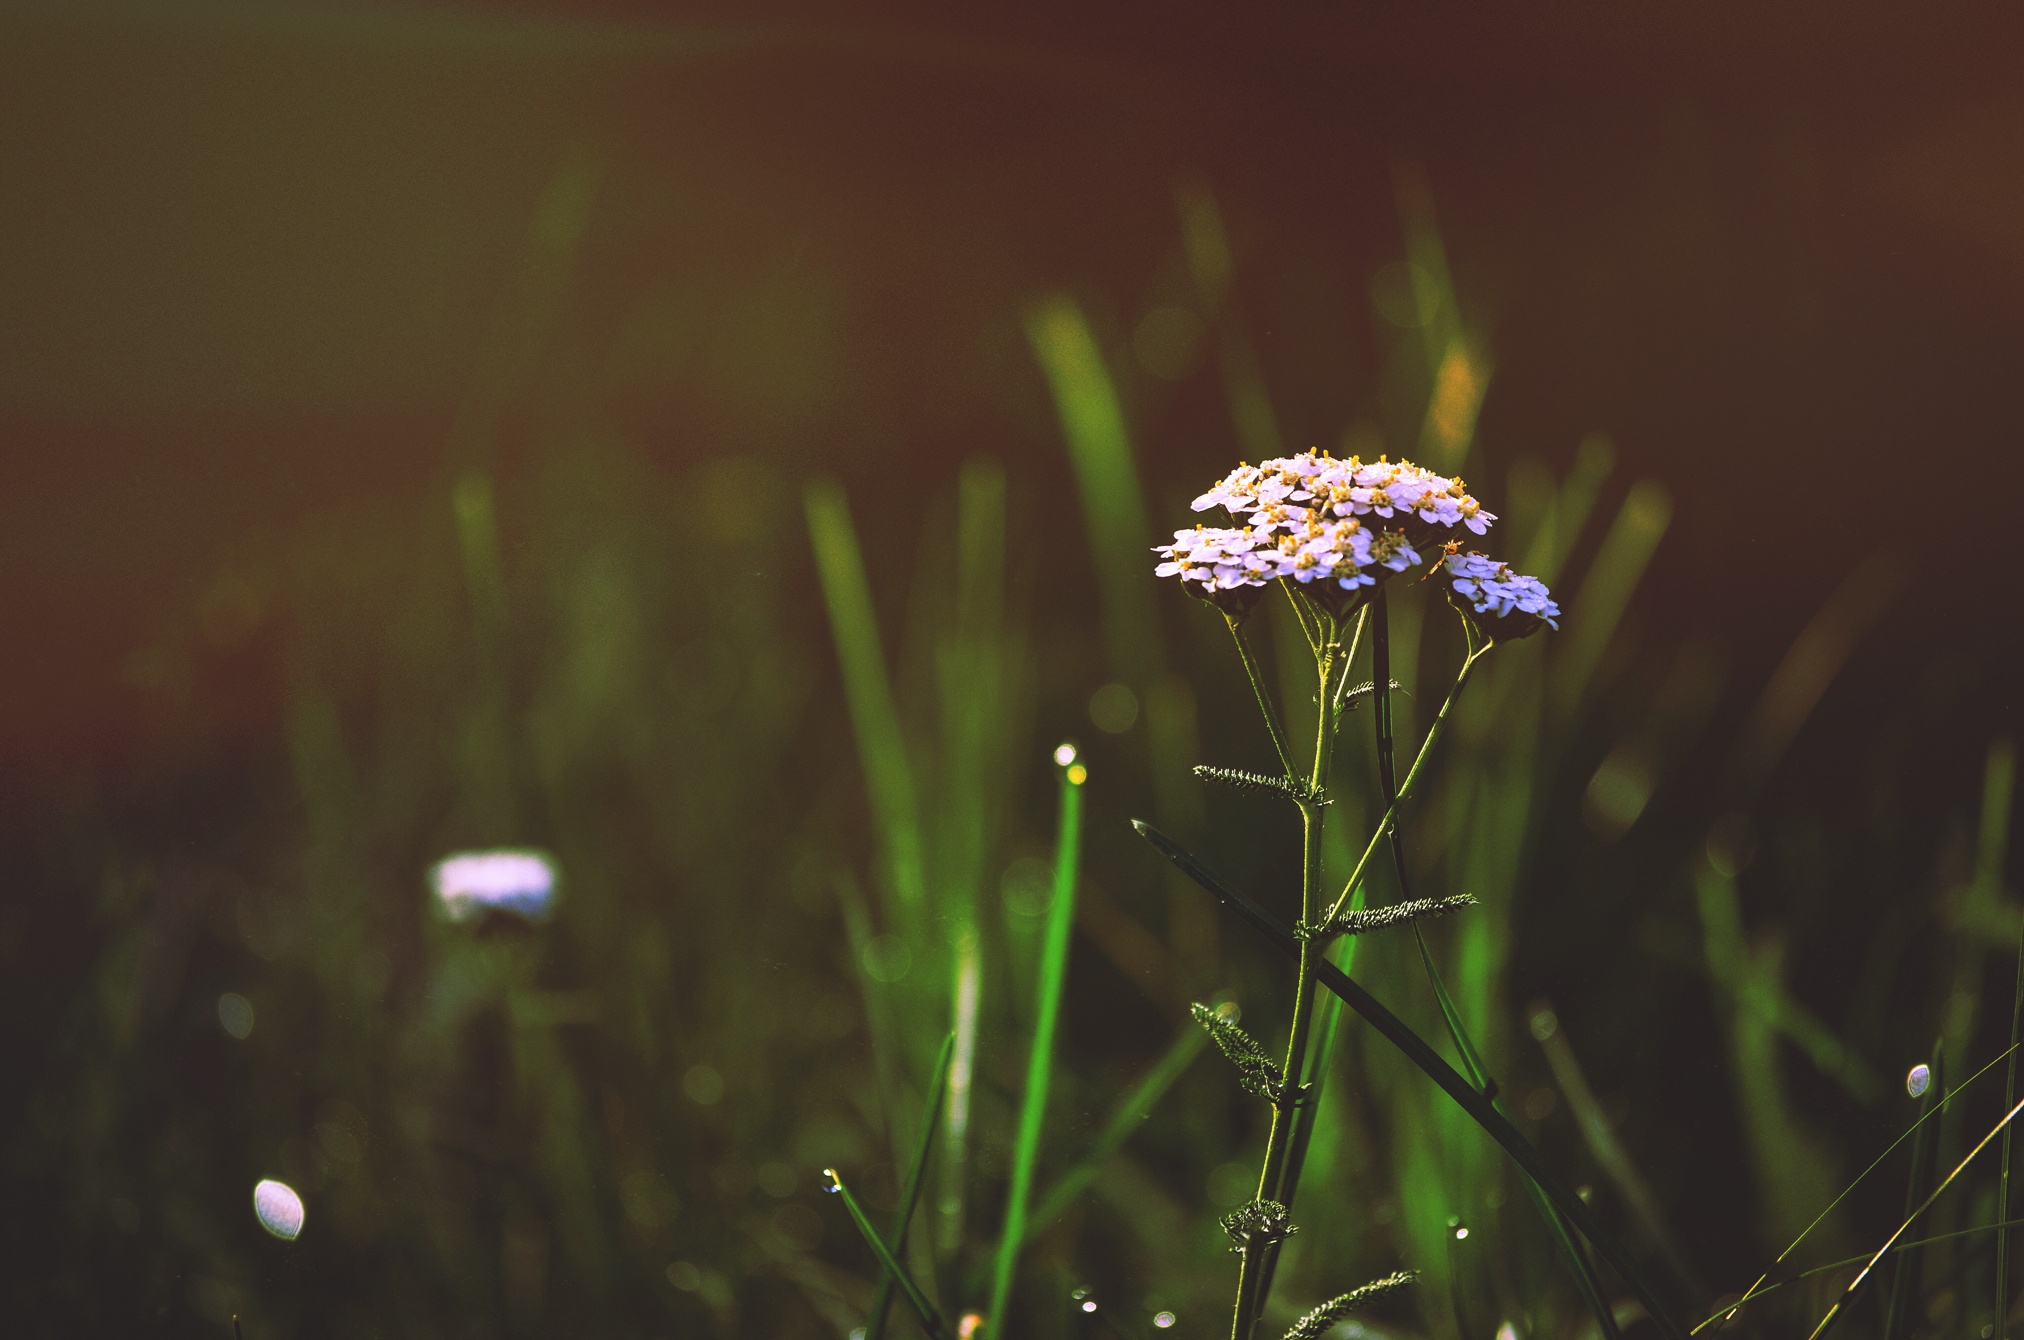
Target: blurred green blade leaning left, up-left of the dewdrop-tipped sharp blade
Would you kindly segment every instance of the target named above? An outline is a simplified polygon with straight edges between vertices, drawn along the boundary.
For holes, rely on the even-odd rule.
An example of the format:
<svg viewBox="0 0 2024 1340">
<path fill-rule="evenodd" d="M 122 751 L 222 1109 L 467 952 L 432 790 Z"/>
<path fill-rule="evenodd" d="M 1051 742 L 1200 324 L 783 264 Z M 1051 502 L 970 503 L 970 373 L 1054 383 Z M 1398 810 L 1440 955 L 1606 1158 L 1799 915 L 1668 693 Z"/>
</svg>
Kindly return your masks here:
<svg viewBox="0 0 2024 1340">
<path fill-rule="evenodd" d="M 887 872 L 901 909 L 917 913 L 927 897 L 921 864 L 921 818 L 915 804 L 913 767 L 899 729 L 893 682 L 887 678 L 878 619 L 872 613 L 870 583 L 858 532 L 850 524 L 850 502 L 836 480 L 814 478 L 802 494 L 808 508 L 808 536 L 816 549 L 816 571 L 830 609 L 830 634 L 844 670 L 844 698 L 850 729 L 858 739 L 864 789 L 884 846 Z"/>
</svg>

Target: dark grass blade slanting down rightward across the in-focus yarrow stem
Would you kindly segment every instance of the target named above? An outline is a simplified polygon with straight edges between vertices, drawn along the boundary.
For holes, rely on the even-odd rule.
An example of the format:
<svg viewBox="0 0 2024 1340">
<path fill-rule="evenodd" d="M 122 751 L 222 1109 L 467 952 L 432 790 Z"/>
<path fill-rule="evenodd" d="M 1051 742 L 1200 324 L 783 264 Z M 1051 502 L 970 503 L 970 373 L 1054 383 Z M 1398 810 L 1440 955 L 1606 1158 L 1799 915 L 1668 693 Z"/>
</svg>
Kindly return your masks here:
<svg viewBox="0 0 2024 1340">
<path fill-rule="evenodd" d="M 1206 889 L 1210 895 L 1220 899 L 1231 911 L 1243 917 L 1251 929 L 1261 933 L 1279 953 L 1297 959 L 1299 941 L 1293 933 L 1269 911 L 1237 893 L 1222 883 L 1208 866 L 1196 860 L 1186 848 L 1168 838 L 1164 832 L 1146 824 L 1144 820 L 1131 820 L 1131 826 L 1142 838 L 1152 842 L 1154 850 L 1174 862 L 1188 878 Z M 1595 1212 L 1575 1194 L 1575 1190 L 1561 1178 L 1558 1172 L 1540 1156 L 1524 1134 L 1518 1132 L 1512 1121 L 1498 1111 L 1480 1089 L 1475 1089 L 1467 1079 L 1463 1079 L 1455 1067 L 1447 1065 L 1433 1046 L 1427 1044 L 1413 1028 L 1393 1014 L 1384 1004 L 1360 988 L 1348 978 L 1340 968 L 1322 959 L 1316 968 L 1316 980 L 1334 992 L 1342 1004 L 1356 1010 L 1364 1020 L 1376 1028 L 1384 1040 L 1405 1053 L 1427 1079 L 1441 1087 L 1447 1097 L 1455 1101 L 1484 1132 L 1496 1140 L 1512 1162 L 1528 1174 L 1540 1188 L 1540 1192 L 1558 1208 L 1569 1223 L 1573 1223 L 1583 1237 L 1595 1243 L 1595 1249 L 1603 1253 L 1609 1265 L 1623 1277 L 1623 1281 L 1643 1304 L 1652 1320 L 1658 1322 L 1674 1340 L 1684 1340 L 1686 1332 L 1680 1322 L 1674 1320 L 1672 1310 L 1660 1300 L 1658 1291 L 1646 1281 L 1643 1271 L 1637 1269 L 1637 1261 L 1623 1249 L 1609 1229 L 1595 1217 Z"/>
</svg>

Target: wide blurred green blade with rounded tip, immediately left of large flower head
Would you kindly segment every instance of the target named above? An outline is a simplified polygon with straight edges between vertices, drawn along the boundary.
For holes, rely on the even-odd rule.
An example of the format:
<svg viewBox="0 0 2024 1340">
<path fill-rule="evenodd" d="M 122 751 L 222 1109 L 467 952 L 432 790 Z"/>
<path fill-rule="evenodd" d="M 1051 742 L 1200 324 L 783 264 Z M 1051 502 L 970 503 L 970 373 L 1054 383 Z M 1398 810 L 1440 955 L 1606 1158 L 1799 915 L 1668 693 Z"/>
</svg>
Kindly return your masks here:
<svg viewBox="0 0 2024 1340">
<path fill-rule="evenodd" d="M 1083 496 L 1089 551 L 1103 591 L 1103 636 L 1111 666 L 1144 692 L 1160 672 L 1160 615 L 1154 605 L 1152 528 L 1140 492 L 1125 415 L 1103 352 L 1073 298 L 1055 296 L 1026 312 L 1026 338 L 1046 372 Z"/>
</svg>

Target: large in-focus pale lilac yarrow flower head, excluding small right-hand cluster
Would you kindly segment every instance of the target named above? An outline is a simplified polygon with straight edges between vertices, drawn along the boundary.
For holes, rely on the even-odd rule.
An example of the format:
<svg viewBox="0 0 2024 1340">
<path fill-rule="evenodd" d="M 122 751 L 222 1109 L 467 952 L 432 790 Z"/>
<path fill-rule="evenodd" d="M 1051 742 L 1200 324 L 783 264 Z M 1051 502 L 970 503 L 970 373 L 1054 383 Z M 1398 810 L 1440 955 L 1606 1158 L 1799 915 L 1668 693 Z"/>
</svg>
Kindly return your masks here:
<svg viewBox="0 0 2024 1340">
<path fill-rule="evenodd" d="M 1154 551 L 1164 559 L 1154 571 L 1198 583 L 1196 595 L 1233 613 L 1281 577 L 1330 607 L 1352 607 L 1366 595 L 1360 587 L 1421 563 L 1415 545 L 1437 542 L 1455 526 L 1484 534 L 1496 520 L 1461 480 L 1411 462 L 1364 464 L 1318 451 L 1239 466 L 1196 498 L 1194 510 L 1218 504 L 1249 524 L 1176 530 L 1172 545 Z"/>
</svg>

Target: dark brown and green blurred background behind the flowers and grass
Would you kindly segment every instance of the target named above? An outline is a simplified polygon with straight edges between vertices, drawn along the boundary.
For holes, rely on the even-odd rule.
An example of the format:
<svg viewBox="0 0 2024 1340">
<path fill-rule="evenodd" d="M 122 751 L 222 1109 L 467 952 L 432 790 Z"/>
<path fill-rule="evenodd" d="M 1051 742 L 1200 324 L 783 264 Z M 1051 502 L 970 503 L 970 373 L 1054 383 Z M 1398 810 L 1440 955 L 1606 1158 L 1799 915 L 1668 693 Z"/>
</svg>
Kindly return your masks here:
<svg viewBox="0 0 2024 1340">
<path fill-rule="evenodd" d="M 862 1324 L 870 1259 L 816 1174 L 893 1180 L 887 1103 L 947 992 L 917 947 L 943 1006 L 905 988 L 915 1040 L 874 1083 L 880 982 L 836 887 L 880 927 L 891 891 L 818 474 L 933 753 L 937 555 L 963 466 L 1002 470 L 1016 688 L 978 897 L 1012 929 L 986 996 L 1022 961 L 1000 870 L 1050 842 L 1046 753 L 1075 737 L 1093 769 L 1050 1158 L 1186 1000 L 1283 1024 L 1275 964 L 1123 828 L 1160 806 L 1245 878 L 1287 868 L 1261 804 L 1176 800 L 1152 717 L 1091 719 L 1105 684 L 1188 692 L 1202 759 L 1263 761 L 1220 630 L 1150 561 L 1164 660 L 1117 662 L 1034 304 L 1093 334 L 1156 532 L 1271 443 L 1417 453 L 1447 387 L 1447 464 L 1514 540 L 1558 516 L 1563 603 L 1650 540 L 1579 674 L 1534 668 L 1534 743 L 1490 717 L 1457 743 L 1510 826 L 1455 818 L 1457 783 L 1415 842 L 1451 891 L 1502 891 L 1492 947 L 1451 947 L 1496 1069 L 1633 1231 L 1534 1036 L 1579 1049 L 1682 1308 L 1894 1138 L 1935 1036 L 2000 1051 L 2012 12 L 67 4 L 0 34 L 0 1156 L 34 1334 Z M 1455 856 L 1486 834 L 1496 870 Z M 427 915 L 427 864 L 488 844 L 569 878 L 504 949 Z M 1368 974 L 1437 1028 L 1390 949 Z M 980 1044 L 982 1239 L 1016 994 Z M 1344 1046 L 1368 1097 L 1295 1302 L 1336 1247 L 1344 1287 L 1401 1259 L 1457 1281 L 1401 1334 L 1577 1330 L 1488 1146 L 1409 1140 L 1417 1081 Z M 1218 1174 L 1263 1136 L 1212 1061 L 1042 1241 L 1032 1297 L 1091 1283 L 1131 1334 L 1160 1308 L 1218 1334 Z M 249 1215 L 261 1176 L 304 1190 L 298 1243 Z M 1880 1176 L 1818 1261 L 1894 1227 Z M 1449 1212 L 1510 1223 L 1419 1259 Z M 1935 1334 L 1990 1320 L 1986 1291 L 1986 1263 L 1929 1257 Z"/>
</svg>

